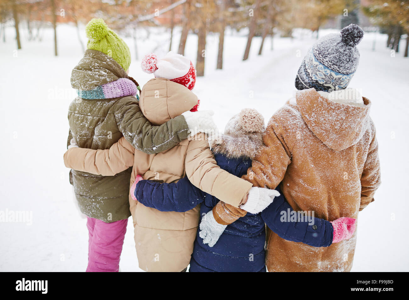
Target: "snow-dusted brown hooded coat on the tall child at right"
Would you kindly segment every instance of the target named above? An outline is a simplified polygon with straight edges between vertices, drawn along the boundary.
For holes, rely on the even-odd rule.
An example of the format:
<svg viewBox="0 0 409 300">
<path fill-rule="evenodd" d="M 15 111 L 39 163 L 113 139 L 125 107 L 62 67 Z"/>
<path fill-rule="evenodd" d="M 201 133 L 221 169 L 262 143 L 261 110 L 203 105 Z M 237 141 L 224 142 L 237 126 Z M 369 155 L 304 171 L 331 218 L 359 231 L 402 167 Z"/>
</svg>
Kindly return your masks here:
<svg viewBox="0 0 409 300">
<path fill-rule="evenodd" d="M 380 184 L 371 102 L 336 103 L 315 89 L 298 91 L 296 104 L 274 113 L 263 135 L 264 146 L 243 176 L 257 187 L 279 184 L 295 211 L 315 211 L 333 221 L 356 218 L 373 201 Z M 356 231 L 349 240 L 315 248 L 287 241 L 267 229 L 269 271 L 350 271 Z"/>
</svg>

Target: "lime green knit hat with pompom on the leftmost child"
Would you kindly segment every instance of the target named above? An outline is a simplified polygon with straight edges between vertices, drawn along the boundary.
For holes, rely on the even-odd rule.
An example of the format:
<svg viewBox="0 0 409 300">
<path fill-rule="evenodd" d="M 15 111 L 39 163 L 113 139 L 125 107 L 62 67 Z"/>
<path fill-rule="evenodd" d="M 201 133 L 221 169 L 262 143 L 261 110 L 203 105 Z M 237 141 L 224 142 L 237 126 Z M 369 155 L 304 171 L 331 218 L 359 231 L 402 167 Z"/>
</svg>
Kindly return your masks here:
<svg viewBox="0 0 409 300">
<path fill-rule="evenodd" d="M 90 20 L 85 27 L 85 33 L 88 38 L 87 49 L 105 53 L 128 71 L 130 65 L 128 45 L 105 24 L 104 20 Z"/>
</svg>

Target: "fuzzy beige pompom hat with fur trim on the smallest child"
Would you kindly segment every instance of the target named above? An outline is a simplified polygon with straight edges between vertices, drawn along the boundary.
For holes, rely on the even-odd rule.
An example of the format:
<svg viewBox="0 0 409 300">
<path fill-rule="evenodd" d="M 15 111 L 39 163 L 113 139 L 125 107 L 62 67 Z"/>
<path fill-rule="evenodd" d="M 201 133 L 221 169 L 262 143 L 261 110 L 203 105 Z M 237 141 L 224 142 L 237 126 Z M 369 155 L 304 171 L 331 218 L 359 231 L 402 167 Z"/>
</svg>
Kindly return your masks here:
<svg viewBox="0 0 409 300">
<path fill-rule="evenodd" d="M 230 158 L 253 159 L 263 144 L 264 118 L 255 109 L 245 108 L 233 116 L 225 127 L 225 133 L 209 141 L 213 153 Z"/>
</svg>

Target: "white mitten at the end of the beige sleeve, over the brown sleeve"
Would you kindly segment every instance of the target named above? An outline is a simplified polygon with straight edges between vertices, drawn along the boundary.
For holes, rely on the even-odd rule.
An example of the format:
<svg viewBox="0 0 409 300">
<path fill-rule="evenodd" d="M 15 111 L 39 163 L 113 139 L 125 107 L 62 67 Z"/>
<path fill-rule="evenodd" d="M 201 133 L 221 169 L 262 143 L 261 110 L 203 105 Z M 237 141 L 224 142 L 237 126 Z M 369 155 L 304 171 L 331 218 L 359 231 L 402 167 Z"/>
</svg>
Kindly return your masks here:
<svg viewBox="0 0 409 300">
<path fill-rule="evenodd" d="M 240 208 L 249 213 L 259 213 L 269 206 L 276 196 L 280 196 L 280 193 L 275 189 L 252 187 L 249 191 L 247 202 L 241 204 Z"/>
</svg>

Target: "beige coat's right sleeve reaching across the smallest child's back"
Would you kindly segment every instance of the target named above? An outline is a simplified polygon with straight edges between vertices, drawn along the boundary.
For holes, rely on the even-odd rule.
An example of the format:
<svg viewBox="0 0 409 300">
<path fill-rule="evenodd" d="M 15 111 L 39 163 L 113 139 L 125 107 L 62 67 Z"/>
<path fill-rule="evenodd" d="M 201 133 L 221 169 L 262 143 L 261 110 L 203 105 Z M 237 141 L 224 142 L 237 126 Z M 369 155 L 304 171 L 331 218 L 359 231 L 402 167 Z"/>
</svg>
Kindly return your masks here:
<svg viewBox="0 0 409 300">
<path fill-rule="evenodd" d="M 186 176 L 194 186 L 234 207 L 239 207 L 252 187 L 250 182 L 217 165 L 207 136 L 203 133 L 193 136 L 189 141 L 185 169 Z"/>
</svg>

